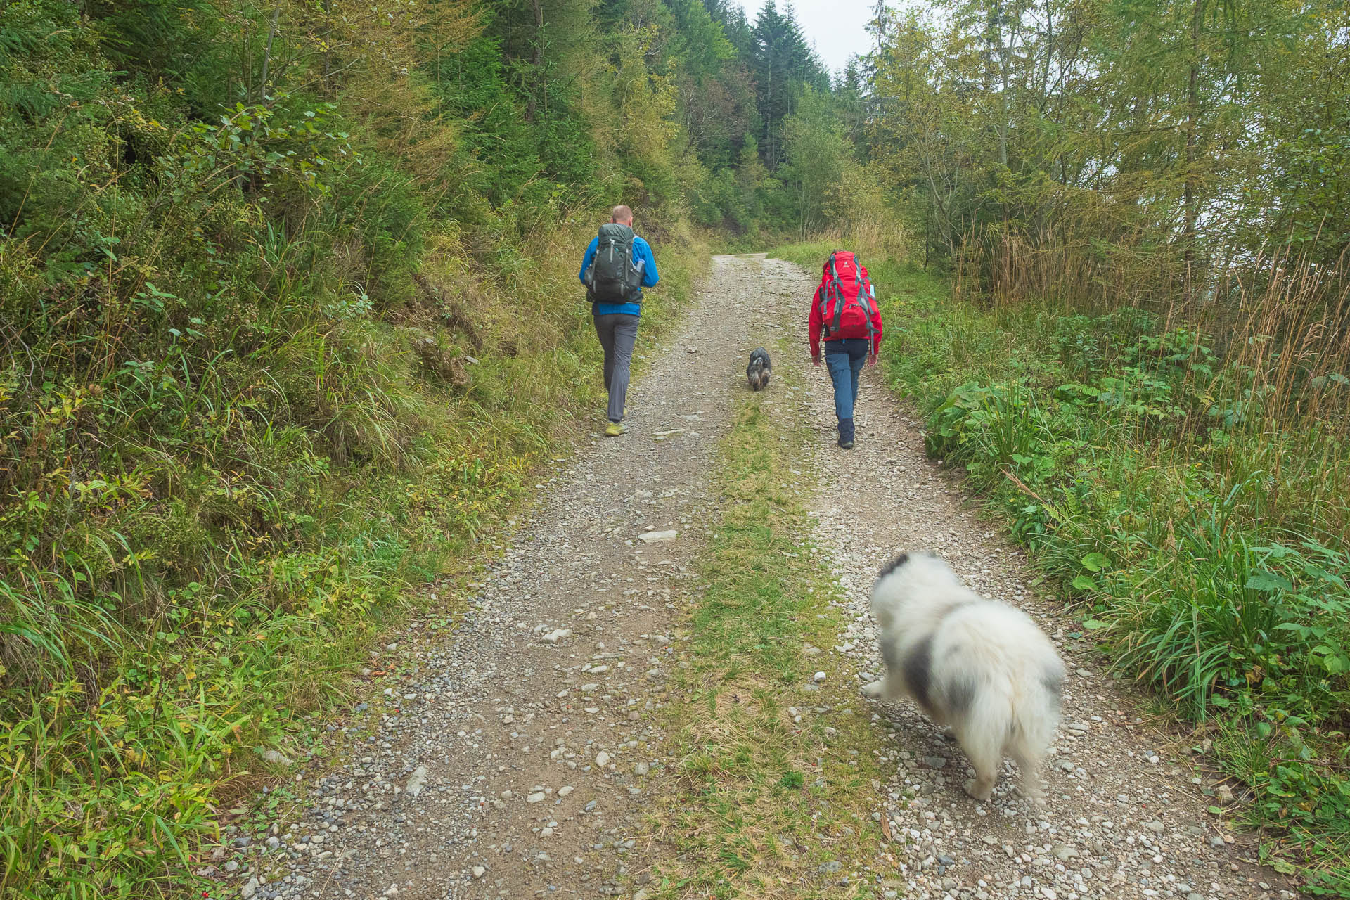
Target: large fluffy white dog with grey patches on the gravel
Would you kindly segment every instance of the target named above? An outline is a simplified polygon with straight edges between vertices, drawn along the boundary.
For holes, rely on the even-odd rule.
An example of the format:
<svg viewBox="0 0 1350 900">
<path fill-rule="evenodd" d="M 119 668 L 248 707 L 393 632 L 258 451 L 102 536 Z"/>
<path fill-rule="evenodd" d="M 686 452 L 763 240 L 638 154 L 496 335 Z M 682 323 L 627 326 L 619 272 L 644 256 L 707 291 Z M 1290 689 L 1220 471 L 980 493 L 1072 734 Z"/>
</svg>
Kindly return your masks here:
<svg viewBox="0 0 1350 900">
<path fill-rule="evenodd" d="M 1041 803 L 1040 769 L 1060 719 L 1064 663 L 1022 610 L 986 600 L 927 553 L 902 553 L 872 587 L 886 676 L 869 696 L 913 698 L 948 725 L 975 766 L 965 785 L 988 800 L 1003 757 Z"/>
</svg>

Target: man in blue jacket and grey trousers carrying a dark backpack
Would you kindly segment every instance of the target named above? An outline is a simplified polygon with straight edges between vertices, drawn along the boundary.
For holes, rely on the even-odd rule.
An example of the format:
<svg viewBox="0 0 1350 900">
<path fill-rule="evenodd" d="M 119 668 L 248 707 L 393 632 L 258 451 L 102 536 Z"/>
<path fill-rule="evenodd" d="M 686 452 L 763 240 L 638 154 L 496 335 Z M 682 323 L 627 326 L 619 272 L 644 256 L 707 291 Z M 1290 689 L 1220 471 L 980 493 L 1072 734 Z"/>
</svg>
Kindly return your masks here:
<svg viewBox="0 0 1350 900">
<path fill-rule="evenodd" d="M 655 287 L 656 258 L 651 244 L 633 233 L 633 210 L 614 206 L 582 258 L 582 283 L 591 302 L 595 335 L 605 348 L 605 390 L 609 391 L 606 437 L 624 433 L 628 412 L 628 371 L 643 314 L 643 287 Z"/>
</svg>

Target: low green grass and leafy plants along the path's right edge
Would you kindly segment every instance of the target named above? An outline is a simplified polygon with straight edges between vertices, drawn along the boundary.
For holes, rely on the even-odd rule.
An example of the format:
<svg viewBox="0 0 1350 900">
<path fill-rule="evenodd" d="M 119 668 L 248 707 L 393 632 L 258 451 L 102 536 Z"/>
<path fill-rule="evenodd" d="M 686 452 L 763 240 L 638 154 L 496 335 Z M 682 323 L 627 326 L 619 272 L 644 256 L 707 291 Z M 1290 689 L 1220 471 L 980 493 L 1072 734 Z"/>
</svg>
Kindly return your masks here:
<svg viewBox="0 0 1350 900">
<path fill-rule="evenodd" d="M 887 378 L 930 453 L 967 471 L 1116 671 L 1210 735 L 1245 801 L 1226 815 L 1268 828 L 1310 889 L 1350 891 L 1350 459 L 1343 422 L 1282 401 L 1335 379 L 1270 390 L 1282 372 L 1142 310 L 984 306 L 869 270 Z"/>
</svg>

